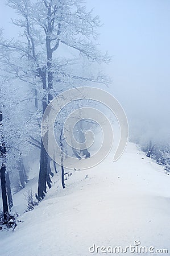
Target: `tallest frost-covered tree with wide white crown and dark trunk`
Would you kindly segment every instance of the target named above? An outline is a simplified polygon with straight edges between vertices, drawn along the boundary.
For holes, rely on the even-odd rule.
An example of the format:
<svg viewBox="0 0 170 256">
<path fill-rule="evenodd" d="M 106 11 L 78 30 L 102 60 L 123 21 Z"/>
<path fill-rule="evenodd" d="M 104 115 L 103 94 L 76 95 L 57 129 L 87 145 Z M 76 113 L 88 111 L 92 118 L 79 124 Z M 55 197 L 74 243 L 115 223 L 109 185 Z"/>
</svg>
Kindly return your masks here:
<svg viewBox="0 0 170 256">
<path fill-rule="evenodd" d="M 81 0 L 8 0 L 7 5 L 19 15 L 13 23 L 22 32 L 19 40 L 1 38 L 1 50 L 6 52 L 2 69 L 11 78 L 30 84 L 35 108 L 42 109 L 42 114 L 49 101 L 75 81 L 77 85 L 82 81 L 107 82 L 101 72 L 82 76 L 78 69 L 82 59 L 90 63 L 110 61 L 107 53 L 103 55 L 96 47 L 99 18 L 87 11 Z M 38 198 L 43 199 L 48 155 L 42 142 L 40 150 Z"/>
</svg>

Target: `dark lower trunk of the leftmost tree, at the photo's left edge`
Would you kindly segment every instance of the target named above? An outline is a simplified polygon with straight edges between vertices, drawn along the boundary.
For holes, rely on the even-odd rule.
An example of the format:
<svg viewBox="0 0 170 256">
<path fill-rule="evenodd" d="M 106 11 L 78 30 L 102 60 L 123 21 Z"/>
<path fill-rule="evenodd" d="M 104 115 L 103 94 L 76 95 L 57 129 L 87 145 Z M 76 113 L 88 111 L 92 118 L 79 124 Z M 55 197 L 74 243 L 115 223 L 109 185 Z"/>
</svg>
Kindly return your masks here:
<svg viewBox="0 0 170 256">
<path fill-rule="evenodd" d="M 3 204 L 3 217 L 4 222 L 7 222 L 7 218 L 9 215 L 9 207 L 7 203 L 7 193 L 6 193 L 6 180 L 5 180 L 5 165 L 1 167 L 1 190 L 2 190 L 2 204 Z"/>
</svg>

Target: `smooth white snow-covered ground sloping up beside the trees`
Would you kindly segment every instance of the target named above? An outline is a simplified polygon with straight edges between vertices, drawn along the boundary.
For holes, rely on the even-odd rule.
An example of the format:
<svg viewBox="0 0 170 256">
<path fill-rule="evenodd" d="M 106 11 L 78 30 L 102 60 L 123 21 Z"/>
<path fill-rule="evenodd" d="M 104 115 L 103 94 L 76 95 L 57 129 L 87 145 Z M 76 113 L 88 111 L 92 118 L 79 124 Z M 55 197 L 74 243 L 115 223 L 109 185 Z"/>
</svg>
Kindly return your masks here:
<svg viewBox="0 0 170 256">
<path fill-rule="evenodd" d="M 18 217 L 23 222 L 14 232 L 0 232 L 0 255 L 105 255 L 99 249 L 90 253 L 89 247 L 125 248 L 136 240 L 155 247 L 154 252 L 168 249 L 161 255 L 170 255 L 170 176 L 132 143 L 121 159 L 114 163 L 112 158 L 110 154 L 96 167 L 73 171 L 65 189 L 55 175 L 45 199 Z M 36 192 L 36 186 L 35 177 L 14 195 L 13 211 L 26 209 L 23 194 L 30 188 Z"/>
</svg>

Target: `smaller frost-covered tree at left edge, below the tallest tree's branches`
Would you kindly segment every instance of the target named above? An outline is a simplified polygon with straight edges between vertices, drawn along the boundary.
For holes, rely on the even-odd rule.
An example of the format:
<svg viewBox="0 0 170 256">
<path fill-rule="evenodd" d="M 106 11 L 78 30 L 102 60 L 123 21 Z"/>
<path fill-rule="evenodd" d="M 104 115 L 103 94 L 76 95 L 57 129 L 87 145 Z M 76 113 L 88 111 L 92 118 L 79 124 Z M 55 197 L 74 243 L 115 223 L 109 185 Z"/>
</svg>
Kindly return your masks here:
<svg viewBox="0 0 170 256">
<path fill-rule="evenodd" d="M 13 206 L 11 194 L 11 183 L 14 184 L 16 177 L 21 177 L 21 170 L 18 174 L 18 163 L 22 163 L 23 156 L 30 153 L 34 145 L 30 144 L 30 129 L 27 121 L 26 95 L 22 86 L 15 85 L 10 81 L 2 80 L 0 85 L 0 106 L 3 113 L 3 130 L 1 130 L 1 144 L 5 143 L 5 159 L 1 159 L 5 166 L 5 179 L 9 208 Z M 31 129 L 33 129 L 31 124 Z M 2 156 L 1 156 L 2 158 Z M 26 179 L 20 179 L 22 186 Z M 2 186 L 3 188 L 3 186 Z"/>
</svg>

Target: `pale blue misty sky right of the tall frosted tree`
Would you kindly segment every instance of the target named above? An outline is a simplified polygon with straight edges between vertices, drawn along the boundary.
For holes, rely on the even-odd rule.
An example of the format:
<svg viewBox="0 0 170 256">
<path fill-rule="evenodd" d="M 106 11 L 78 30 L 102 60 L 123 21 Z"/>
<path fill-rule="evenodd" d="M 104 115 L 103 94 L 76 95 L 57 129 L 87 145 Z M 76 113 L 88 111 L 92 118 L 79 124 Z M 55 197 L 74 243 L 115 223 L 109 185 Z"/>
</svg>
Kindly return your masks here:
<svg viewBox="0 0 170 256">
<path fill-rule="evenodd" d="M 1 0 L 2 1 L 2 0 Z M 2 1 L 5 2 L 5 1 Z M 13 10 L 1 2 L 0 22 L 5 35 L 15 36 Z M 170 1 L 87 0 L 103 26 L 102 51 L 113 61 L 105 67 L 113 83 L 107 89 L 121 102 L 130 123 L 169 133 Z M 140 121 L 141 119 L 141 121 Z M 144 130 L 143 130 L 144 131 Z"/>
</svg>

